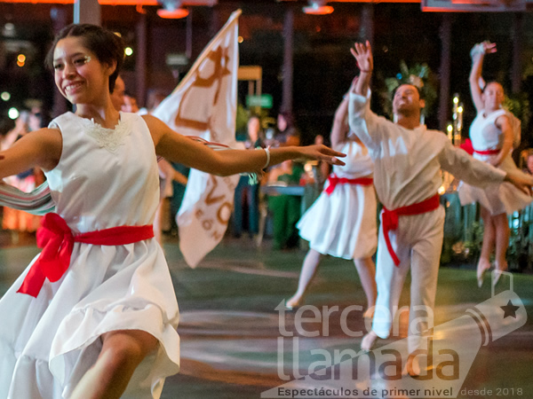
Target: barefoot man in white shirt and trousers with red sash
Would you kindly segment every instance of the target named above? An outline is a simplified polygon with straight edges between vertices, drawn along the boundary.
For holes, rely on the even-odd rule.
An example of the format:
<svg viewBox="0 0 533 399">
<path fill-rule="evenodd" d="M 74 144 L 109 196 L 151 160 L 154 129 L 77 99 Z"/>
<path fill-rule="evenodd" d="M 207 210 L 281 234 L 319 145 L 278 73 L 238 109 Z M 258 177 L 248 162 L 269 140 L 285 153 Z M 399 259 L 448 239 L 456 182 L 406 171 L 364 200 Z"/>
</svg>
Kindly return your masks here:
<svg viewBox="0 0 533 399">
<path fill-rule="evenodd" d="M 444 209 L 437 194 L 441 168 L 469 184 L 485 187 L 508 181 L 529 193 L 533 177 L 505 174 L 455 148 L 442 132 L 427 130 L 420 124 L 424 100 L 410 84 L 403 84 L 394 94 L 395 122 L 372 113 L 370 43 L 355 43 L 351 51 L 361 74 L 350 90 L 350 128 L 375 162 L 374 184 L 384 205 L 378 239 L 378 300 L 372 329 L 363 337 L 361 348 L 370 350 L 378 338 L 389 336 L 410 269 L 408 347 L 413 353 L 424 346 L 423 335 L 433 327 L 444 226 Z M 410 356 L 407 362 L 410 375 L 420 373 L 417 357 Z"/>
</svg>

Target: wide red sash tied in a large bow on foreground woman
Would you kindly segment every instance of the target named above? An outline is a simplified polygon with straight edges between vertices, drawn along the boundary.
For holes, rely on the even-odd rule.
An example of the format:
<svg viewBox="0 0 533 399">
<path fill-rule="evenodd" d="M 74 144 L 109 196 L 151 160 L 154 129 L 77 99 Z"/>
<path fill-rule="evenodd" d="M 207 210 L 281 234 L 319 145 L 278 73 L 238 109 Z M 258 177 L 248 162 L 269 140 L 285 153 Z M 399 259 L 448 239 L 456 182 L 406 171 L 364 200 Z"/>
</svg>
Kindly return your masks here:
<svg viewBox="0 0 533 399">
<path fill-rule="evenodd" d="M 118 226 L 99 231 L 74 235 L 67 222 L 58 214 L 46 214 L 37 231 L 37 246 L 43 252 L 31 266 L 17 293 L 37 297 L 44 285 L 44 278 L 58 281 L 70 265 L 70 255 L 75 242 L 97 246 L 123 246 L 154 237 L 154 227 Z"/>
</svg>

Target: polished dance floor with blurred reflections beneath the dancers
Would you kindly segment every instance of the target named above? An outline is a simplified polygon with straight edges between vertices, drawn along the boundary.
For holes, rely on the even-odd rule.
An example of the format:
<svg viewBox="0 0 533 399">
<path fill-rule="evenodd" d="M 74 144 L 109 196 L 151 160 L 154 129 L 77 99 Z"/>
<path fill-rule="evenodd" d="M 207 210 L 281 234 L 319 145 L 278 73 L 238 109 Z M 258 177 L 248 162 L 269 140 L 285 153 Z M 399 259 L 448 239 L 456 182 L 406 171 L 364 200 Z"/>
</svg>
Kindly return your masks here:
<svg viewBox="0 0 533 399">
<path fill-rule="evenodd" d="M 0 246 L 2 295 L 37 249 L 31 239 L 13 246 L 1 236 Z M 435 353 L 434 367 L 427 369 L 434 371 L 433 377 L 413 379 L 398 373 L 398 379 L 385 378 L 396 369 L 390 357 L 389 363 L 384 361 L 383 349 L 405 353 L 407 313 L 400 312 L 394 335 L 379 340 L 374 350 L 378 367 L 373 372 L 362 367 L 356 378 L 353 370 L 341 370 L 334 380 L 320 377 L 321 369 L 333 370 L 331 365 L 339 363 L 328 364 L 327 354 L 357 352 L 361 337 L 352 332 L 366 328 L 361 309 L 353 307 L 364 305 L 354 264 L 326 258 L 306 297 L 312 307 L 288 312 L 280 304 L 296 289 L 306 253 L 269 247 L 268 241 L 257 248 L 247 238 L 225 239 L 193 270 L 183 261 L 178 243 L 167 239 L 164 249 L 181 314 L 182 370 L 167 379 L 163 398 L 533 398 L 533 320 L 528 318 L 533 310 L 533 274 L 513 274 L 512 291 L 511 278 L 505 277 L 492 298 L 489 278 L 479 289 L 473 267 L 442 267 L 435 347 L 430 350 Z M 401 306 L 409 303 L 409 282 L 408 278 Z M 497 299 L 505 301 L 496 303 Z M 481 314 L 481 321 L 474 313 Z M 443 342 L 458 354 L 457 367 L 440 363 L 438 348 Z M 457 372 L 451 382 L 446 378 L 450 372 Z M 351 396 L 340 395 L 348 392 L 346 388 Z"/>
</svg>

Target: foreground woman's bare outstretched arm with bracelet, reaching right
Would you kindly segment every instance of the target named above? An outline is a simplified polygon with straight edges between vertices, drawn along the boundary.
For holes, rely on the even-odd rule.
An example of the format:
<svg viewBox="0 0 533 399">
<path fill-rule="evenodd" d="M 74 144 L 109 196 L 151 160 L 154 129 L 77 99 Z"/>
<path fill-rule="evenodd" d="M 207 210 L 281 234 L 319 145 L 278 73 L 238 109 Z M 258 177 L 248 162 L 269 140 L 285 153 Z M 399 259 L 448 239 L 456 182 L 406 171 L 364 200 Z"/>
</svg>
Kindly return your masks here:
<svg viewBox="0 0 533 399">
<path fill-rule="evenodd" d="M 263 168 L 281 163 L 283 160 L 323 160 L 333 165 L 344 165 L 344 162 L 338 160 L 337 157 L 346 156 L 325 145 L 272 148 L 269 153 L 263 150 L 214 151 L 205 145 L 179 135 L 154 116 L 143 115 L 143 118 L 152 134 L 157 155 L 211 175 L 230 176 L 243 172 L 259 173 Z"/>
</svg>

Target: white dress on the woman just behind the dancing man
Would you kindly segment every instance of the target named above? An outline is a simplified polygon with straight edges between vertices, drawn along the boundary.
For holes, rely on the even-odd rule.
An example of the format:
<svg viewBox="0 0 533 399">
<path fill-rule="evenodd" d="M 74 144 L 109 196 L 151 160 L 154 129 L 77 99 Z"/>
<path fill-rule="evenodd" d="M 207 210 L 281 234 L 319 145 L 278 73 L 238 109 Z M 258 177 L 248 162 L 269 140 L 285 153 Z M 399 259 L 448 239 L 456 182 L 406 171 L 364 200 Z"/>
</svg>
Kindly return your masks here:
<svg viewBox="0 0 533 399">
<path fill-rule="evenodd" d="M 348 141 L 337 150 L 346 153 L 346 165 L 334 165 L 334 175 L 349 179 L 372 175 L 374 164 L 366 147 Z M 330 195 L 320 194 L 297 227 L 300 237 L 320 254 L 344 259 L 371 256 L 378 246 L 374 186 L 337 184 Z"/>
</svg>

